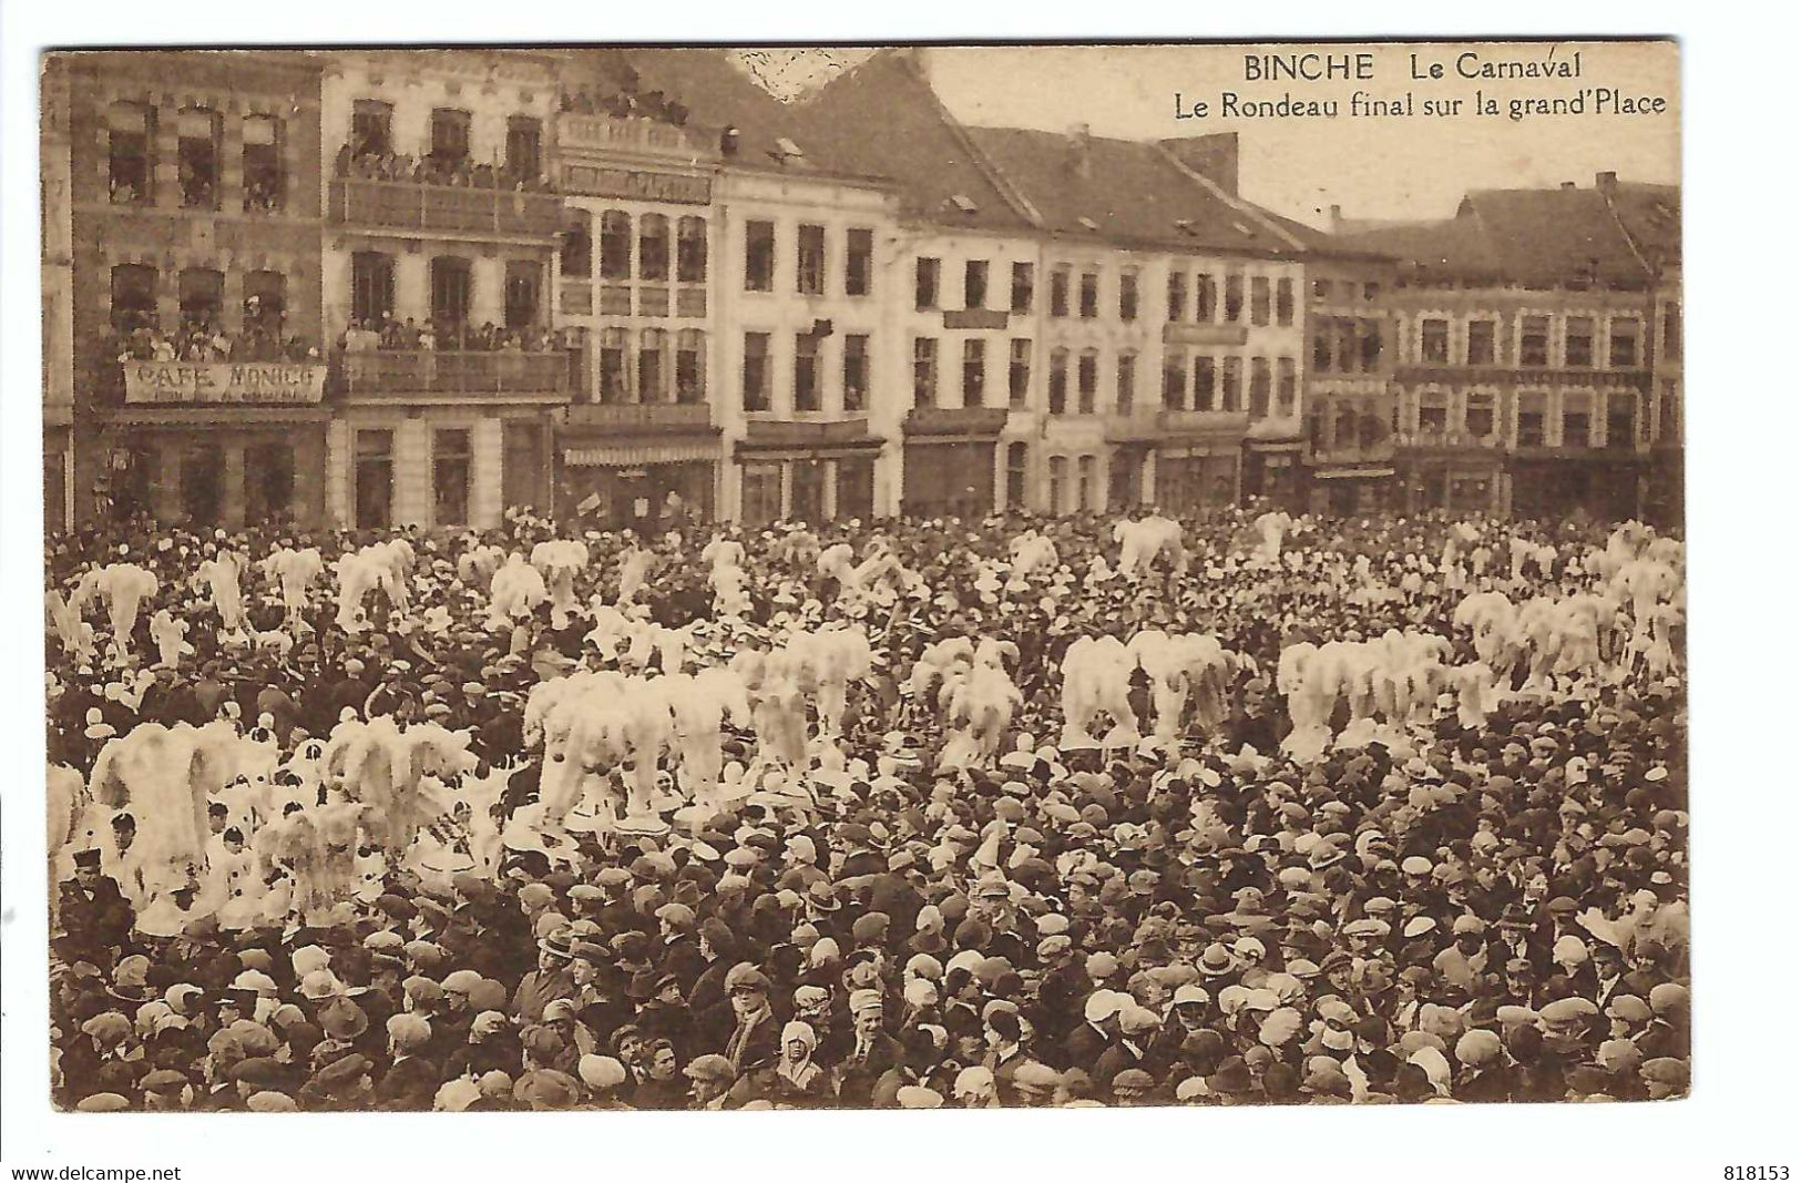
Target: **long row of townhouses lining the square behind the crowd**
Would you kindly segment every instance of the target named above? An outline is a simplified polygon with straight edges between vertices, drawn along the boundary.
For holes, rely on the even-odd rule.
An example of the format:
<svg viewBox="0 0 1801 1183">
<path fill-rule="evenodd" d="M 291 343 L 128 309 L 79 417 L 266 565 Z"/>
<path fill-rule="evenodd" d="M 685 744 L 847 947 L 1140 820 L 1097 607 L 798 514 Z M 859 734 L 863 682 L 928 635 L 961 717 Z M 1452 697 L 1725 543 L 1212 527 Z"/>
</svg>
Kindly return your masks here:
<svg viewBox="0 0 1801 1183">
<path fill-rule="evenodd" d="M 1540 324 L 1545 357 L 1590 335 L 1601 387 L 1632 371 L 1628 299 L 1482 324 L 1392 243 L 1239 200 L 1232 137 L 965 128 L 906 52 L 796 104 L 715 50 L 76 54 L 47 103 L 58 77 L 52 526 L 1504 510 L 1504 477 L 1405 450 L 1576 439 L 1578 394 L 1489 375 Z"/>
</svg>

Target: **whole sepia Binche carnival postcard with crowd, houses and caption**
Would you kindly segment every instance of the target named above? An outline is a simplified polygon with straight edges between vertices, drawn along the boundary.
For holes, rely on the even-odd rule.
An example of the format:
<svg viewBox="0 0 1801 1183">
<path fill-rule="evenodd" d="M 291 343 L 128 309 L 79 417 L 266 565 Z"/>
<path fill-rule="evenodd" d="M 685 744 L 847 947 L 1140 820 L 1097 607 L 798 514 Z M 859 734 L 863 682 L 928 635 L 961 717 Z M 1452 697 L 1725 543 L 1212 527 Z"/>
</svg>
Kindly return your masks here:
<svg viewBox="0 0 1801 1183">
<path fill-rule="evenodd" d="M 9 1041 L 83 1115 L 1688 1097 L 1680 56 L 49 49 Z"/>
</svg>

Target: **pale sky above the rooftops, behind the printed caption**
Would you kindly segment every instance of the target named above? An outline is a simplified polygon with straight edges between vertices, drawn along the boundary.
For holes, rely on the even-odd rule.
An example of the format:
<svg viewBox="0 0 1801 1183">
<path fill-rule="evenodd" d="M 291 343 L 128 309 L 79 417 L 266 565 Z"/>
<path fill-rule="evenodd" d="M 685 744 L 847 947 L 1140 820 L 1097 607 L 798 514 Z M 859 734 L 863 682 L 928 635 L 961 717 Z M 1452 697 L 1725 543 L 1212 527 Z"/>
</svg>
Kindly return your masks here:
<svg viewBox="0 0 1801 1183">
<path fill-rule="evenodd" d="M 1371 81 L 1246 81 L 1246 52 L 1369 52 Z M 1457 56 L 1497 63 L 1572 63 L 1579 79 L 1486 81 L 1457 76 Z M 1417 72 L 1426 77 L 1414 79 Z M 1135 45 L 1135 47 L 935 47 L 926 65 L 944 104 L 978 126 L 1025 126 L 1095 135 L 1167 139 L 1239 133 L 1239 191 L 1275 212 L 1326 227 L 1331 205 L 1347 218 L 1448 218 L 1468 189 L 1592 185 L 1599 171 L 1621 180 L 1680 182 L 1679 63 L 1668 43 L 1459 43 L 1459 45 Z M 1432 65 L 1444 68 L 1430 77 Z M 1477 90 L 1502 99 L 1500 115 L 1471 113 Z M 1594 113 L 1592 90 L 1661 95 L 1662 113 Z M 1414 95 L 1412 117 L 1356 117 L 1354 90 L 1380 99 Z M 1570 97 L 1588 90 L 1583 113 L 1513 121 L 1507 99 Z M 1201 119 L 1176 119 L 1176 94 Z M 1336 119 L 1225 115 L 1221 92 L 1243 99 L 1338 99 Z M 1455 115 L 1426 115 L 1426 99 L 1461 99 Z M 1243 103 L 1241 103 L 1243 110 Z"/>
</svg>

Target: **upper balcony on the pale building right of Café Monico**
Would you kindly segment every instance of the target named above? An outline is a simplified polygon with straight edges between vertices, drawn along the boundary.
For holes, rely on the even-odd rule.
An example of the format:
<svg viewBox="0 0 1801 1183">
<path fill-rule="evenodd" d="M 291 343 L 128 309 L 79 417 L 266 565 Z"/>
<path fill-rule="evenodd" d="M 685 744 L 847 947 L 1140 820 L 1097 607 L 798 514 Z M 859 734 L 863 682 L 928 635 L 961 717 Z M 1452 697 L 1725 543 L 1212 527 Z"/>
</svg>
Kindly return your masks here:
<svg viewBox="0 0 1801 1183">
<path fill-rule="evenodd" d="M 331 182 L 330 220 L 384 230 L 544 239 L 564 229 L 555 193 L 360 178 Z"/>
</svg>

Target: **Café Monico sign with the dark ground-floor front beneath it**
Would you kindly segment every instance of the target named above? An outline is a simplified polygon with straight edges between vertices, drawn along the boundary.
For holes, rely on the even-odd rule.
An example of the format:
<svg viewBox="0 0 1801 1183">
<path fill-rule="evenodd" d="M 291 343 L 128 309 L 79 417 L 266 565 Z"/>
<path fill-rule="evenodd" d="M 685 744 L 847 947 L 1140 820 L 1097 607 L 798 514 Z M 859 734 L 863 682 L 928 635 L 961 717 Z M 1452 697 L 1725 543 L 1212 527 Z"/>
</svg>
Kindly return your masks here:
<svg viewBox="0 0 1801 1183">
<path fill-rule="evenodd" d="M 95 409 L 94 488 L 113 517 L 240 528 L 324 520 L 326 366 L 126 362 Z"/>
</svg>

